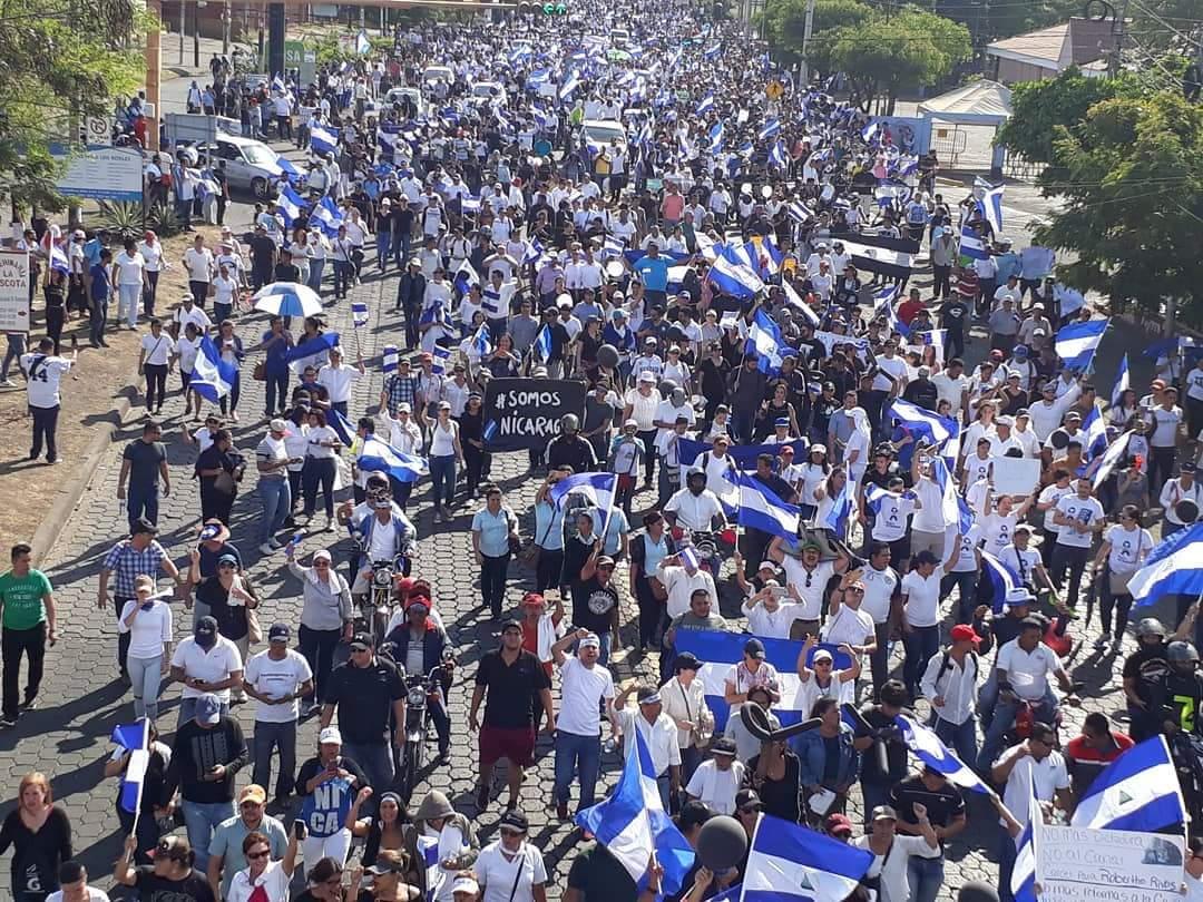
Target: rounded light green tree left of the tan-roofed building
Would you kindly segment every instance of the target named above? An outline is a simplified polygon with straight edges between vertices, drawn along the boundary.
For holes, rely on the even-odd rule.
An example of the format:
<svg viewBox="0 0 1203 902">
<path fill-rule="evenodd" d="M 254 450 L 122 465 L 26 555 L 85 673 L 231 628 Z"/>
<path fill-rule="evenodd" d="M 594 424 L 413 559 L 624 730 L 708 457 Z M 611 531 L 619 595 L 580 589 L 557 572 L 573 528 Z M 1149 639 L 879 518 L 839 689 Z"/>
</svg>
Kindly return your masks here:
<svg viewBox="0 0 1203 902">
<path fill-rule="evenodd" d="M 852 100 L 867 109 L 879 97 L 887 113 L 902 91 L 935 84 L 973 53 L 965 25 L 915 7 L 877 12 L 831 40 L 831 66 L 848 75 Z"/>
</svg>

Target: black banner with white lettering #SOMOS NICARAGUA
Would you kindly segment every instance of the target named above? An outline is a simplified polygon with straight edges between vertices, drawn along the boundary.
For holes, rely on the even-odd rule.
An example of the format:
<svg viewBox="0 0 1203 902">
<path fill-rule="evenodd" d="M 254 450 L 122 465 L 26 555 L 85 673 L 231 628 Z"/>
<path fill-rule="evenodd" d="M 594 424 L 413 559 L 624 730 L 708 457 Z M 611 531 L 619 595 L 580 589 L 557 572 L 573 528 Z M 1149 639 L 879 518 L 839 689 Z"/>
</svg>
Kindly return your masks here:
<svg viewBox="0 0 1203 902">
<path fill-rule="evenodd" d="M 485 387 L 485 449 L 541 449 L 559 434 L 559 417 L 585 414 L 585 382 L 490 379 Z"/>
</svg>

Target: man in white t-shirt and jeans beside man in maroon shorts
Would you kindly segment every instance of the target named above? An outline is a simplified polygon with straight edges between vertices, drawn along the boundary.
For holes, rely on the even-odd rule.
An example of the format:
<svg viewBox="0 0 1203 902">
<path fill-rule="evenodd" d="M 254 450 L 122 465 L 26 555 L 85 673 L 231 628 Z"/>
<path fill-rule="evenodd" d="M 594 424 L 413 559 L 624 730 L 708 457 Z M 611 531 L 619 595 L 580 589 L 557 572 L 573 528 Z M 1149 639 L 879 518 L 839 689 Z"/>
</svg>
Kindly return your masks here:
<svg viewBox="0 0 1203 902">
<path fill-rule="evenodd" d="M 577 643 L 576 654 L 568 647 Z M 559 718 L 556 722 L 556 814 L 568 820 L 573 776 L 579 775 L 581 796 L 577 812 L 591 807 L 602 770 L 602 706 L 610 720 L 610 735 L 622 732 L 614 710 L 614 677 L 598 664 L 602 640 L 587 629 L 569 633 L 551 647 L 559 667 Z"/>
</svg>

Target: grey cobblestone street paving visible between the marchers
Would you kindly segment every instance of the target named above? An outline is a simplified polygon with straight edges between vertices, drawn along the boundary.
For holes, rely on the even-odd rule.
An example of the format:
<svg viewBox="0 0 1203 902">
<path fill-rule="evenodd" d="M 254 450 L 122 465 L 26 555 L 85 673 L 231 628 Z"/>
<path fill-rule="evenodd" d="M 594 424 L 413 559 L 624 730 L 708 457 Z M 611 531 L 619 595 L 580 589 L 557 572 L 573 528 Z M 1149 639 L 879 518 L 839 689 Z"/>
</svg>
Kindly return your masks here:
<svg viewBox="0 0 1203 902">
<path fill-rule="evenodd" d="M 369 259 L 373 255 L 369 255 Z M 367 272 L 367 268 L 366 268 Z M 360 330 L 362 352 L 368 362 L 369 378 L 360 380 L 352 403 L 352 413 L 362 413 L 379 396 L 381 378 L 379 374 L 379 351 L 386 343 L 401 343 L 399 316 L 393 314 L 392 304 L 396 296 L 396 278 L 377 278 L 374 272 L 369 280 L 355 289 L 354 297 L 366 299 L 372 311 L 369 325 Z M 343 344 L 354 351 L 356 338 L 350 327 L 350 303 L 344 301 L 330 309 L 331 328 L 343 334 Z M 239 322 L 239 332 L 244 340 L 257 342 L 265 327 L 262 314 L 244 315 Z M 132 362 L 131 362 L 132 363 Z M 247 373 L 249 375 L 249 364 Z M 172 376 L 174 380 L 174 376 Z M 180 439 L 179 417 L 183 410 L 182 398 L 171 398 L 166 408 L 170 417 L 166 422 L 165 440 L 168 443 L 168 455 L 172 468 L 173 492 L 162 499 L 160 540 L 172 553 L 177 564 L 186 560 L 190 544 L 195 540 L 198 522 L 200 504 L 195 482 L 189 477 L 194 451 Z M 239 405 L 242 422 L 235 426 L 239 447 L 250 451 L 263 433 L 260 420 L 262 411 L 262 385 L 249 378 L 243 384 L 243 397 Z M 76 854 L 88 866 L 89 872 L 100 883 L 108 886 L 112 883 L 112 862 L 117 858 L 122 837 L 114 813 L 114 799 L 118 791 L 115 781 L 102 777 L 102 766 L 112 750 L 109 734 L 115 724 L 132 718 L 132 701 L 125 687 L 117 681 L 115 672 L 115 621 L 113 612 L 96 609 L 96 576 L 100 559 L 113 541 L 124 532 L 125 514 L 123 504 L 115 498 L 115 483 L 120 458 L 120 449 L 125 441 L 140 433 L 137 419 L 131 419 L 119 440 L 114 443 L 112 455 L 96 471 L 91 485 L 83 494 L 79 506 L 69 522 L 61 524 L 61 534 L 51 554 L 51 560 L 36 562 L 48 570 L 54 583 L 55 597 L 60 610 L 59 645 L 47 657 L 47 678 L 41 695 L 41 707 L 20 718 L 17 728 L 0 734 L 0 761 L 7 772 L 8 791 L 6 807 L 0 815 L 12 806 L 12 795 L 22 777 L 28 771 L 41 770 L 51 775 L 55 801 L 64 805 L 70 813 L 75 833 Z M 241 488 L 241 499 L 235 505 L 233 541 L 243 551 L 250 565 L 250 571 L 263 589 L 266 599 L 261 619 L 266 624 L 285 621 L 296 624 L 300 615 L 298 586 L 284 568 L 283 553 L 269 559 L 260 559 L 255 551 L 254 528 L 259 520 L 260 505 L 253 489 L 254 467 L 250 468 Z M 523 517 L 523 524 L 529 532 L 528 514 L 534 481 L 529 477 L 526 455 L 498 456 L 493 465 L 493 476 L 506 492 L 509 504 Z M 650 498 L 640 495 L 640 500 L 650 503 Z M 429 578 L 434 586 L 435 600 L 448 623 L 454 646 L 458 649 L 463 665 L 458 671 L 458 686 L 450 695 L 450 711 L 454 722 L 452 761 L 450 766 L 437 767 L 428 772 L 422 785 L 415 793 L 415 800 L 421 799 L 427 788 L 438 788 L 448 793 L 457 808 L 476 819 L 484 842 L 494 838 L 497 819 L 500 815 L 500 803 L 494 802 L 487 812 L 476 811 L 472 801 L 472 789 L 475 767 L 475 738 L 466 729 L 467 704 L 470 693 L 470 680 L 476 661 L 482 651 L 494 647 L 498 641 L 497 624 L 478 603 L 475 588 L 475 569 L 472 557 L 468 523 L 475 503 L 464 503 L 457 510 L 452 524 L 434 526 L 425 487 L 415 495 L 411 514 L 415 515 L 421 535 L 417 570 Z M 320 520 L 320 517 L 319 517 Z M 638 521 L 636 521 L 638 522 Z M 316 533 L 304 540 L 303 552 L 308 553 L 322 547 L 327 536 Z M 337 546 L 336 558 L 345 560 L 346 542 Z M 511 580 L 508 594 L 509 605 L 516 605 L 528 581 L 529 574 L 517 565 L 511 568 Z M 626 586 L 626 580 L 618 581 Z M 633 622 L 634 610 L 630 600 L 626 600 L 623 622 Z M 737 616 L 737 599 L 728 593 L 724 599 L 728 616 Z M 177 616 L 177 640 L 188 635 L 190 616 Z M 1094 634 L 1088 637 L 1094 639 Z M 629 642 L 629 636 L 628 636 Z M 263 646 L 255 648 L 260 651 Z M 1073 659 L 1075 678 L 1081 678 L 1090 686 L 1090 699 L 1085 710 L 1110 711 L 1118 706 L 1119 686 L 1114 657 L 1086 657 L 1088 651 L 1079 651 Z M 654 661 L 648 658 L 620 653 L 616 657 L 616 676 L 630 680 L 639 675 L 652 677 Z M 166 692 L 166 711 L 160 720 L 164 729 L 174 723 L 179 688 L 170 687 Z M 249 738 L 251 734 L 253 706 L 236 708 L 243 729 Z M 1071 710 L 1067 714 L 1068 730 L 1077 731 L 1081 712 Z M 315 720 L 302 725 L 298 755 L 301 760 L 312 753 L 315 743 Z M 552 873 L 550 896 L 559 898 L 563 892 L 571 850 L 577 841 L 576 833 L 567 825 L 555 820 L 545 805 L 551 797 L 552 758 L 549 740 L 540 738 L 539 761 L 529 775 L 525 788 L 525 808 L 532 823 L 532 838 L 543 849 Z M 614 783 L 621 761 L 616 755 L 604 760 L 604 779 L 606 785 Z M 249 781 L 249 767 L 239 775 L 241 783 Z M 859 799 L 854 823 L 859 823 Z M 551 814 L 551 817 L 549 817 Z M 972 878 L 991 879 L 996 873 L 992 864 L 997 848 L 997 830 L 995 818 L 983 802 L 976 800 L 971 808 L 970 829 L 953 842 L 948 849 L 948 877 L 942 897 L 952 897 L 955 889 Z M 8 868 L 0 867 L 0 897 L 8 889 Z"/>
</svg>

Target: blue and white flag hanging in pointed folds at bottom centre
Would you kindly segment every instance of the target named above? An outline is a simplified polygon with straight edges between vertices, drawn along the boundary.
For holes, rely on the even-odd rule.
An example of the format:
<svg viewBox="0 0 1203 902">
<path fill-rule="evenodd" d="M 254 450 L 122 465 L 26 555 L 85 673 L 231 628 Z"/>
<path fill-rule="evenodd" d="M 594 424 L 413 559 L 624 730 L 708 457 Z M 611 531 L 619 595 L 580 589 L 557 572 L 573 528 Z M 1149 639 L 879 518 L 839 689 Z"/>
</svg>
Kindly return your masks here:
<svg viewBox="0 0 1203 902">
<path fill-rule="evenodd" d="M 635 730 L 634 740 L 627 743 L 627 762 L 614 793 L 577 814 L 575 823 L 618 860 L 636 888 L 646 888 L 654 855 L 664 870 L 660 891 L 678 892 L 693 867 L 693 847 L 664 811 L 644 734 Z"/>
</svg>

